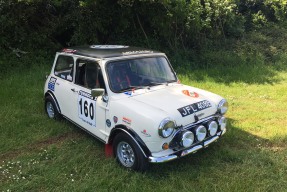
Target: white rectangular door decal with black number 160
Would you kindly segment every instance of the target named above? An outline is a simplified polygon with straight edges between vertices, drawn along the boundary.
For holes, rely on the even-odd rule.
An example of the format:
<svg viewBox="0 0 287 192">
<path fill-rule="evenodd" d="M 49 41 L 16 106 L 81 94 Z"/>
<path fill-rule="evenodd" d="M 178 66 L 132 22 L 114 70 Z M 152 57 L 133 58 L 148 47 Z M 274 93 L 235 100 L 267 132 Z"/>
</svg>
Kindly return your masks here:
<svg viewBox="0 0 287 192">
<path fill-rule="evenodd" d="M 91 94 L 80 91 L 78 97 L 79 118 L 84 122 L 96 126 L 96 101 Z"/>
</svg>

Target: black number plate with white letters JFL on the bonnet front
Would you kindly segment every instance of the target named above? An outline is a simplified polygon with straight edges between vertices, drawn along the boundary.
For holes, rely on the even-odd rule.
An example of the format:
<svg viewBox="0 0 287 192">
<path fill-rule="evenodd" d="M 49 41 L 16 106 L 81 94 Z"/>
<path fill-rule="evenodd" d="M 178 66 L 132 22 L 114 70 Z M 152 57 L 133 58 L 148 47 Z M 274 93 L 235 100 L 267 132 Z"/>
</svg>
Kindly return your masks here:
<svg viewBox="0 0 287 192">
<path fill-rule="evenodd" d="M 202 111 L 204 109 L 207 109 L 211 107 L 211 103 L 207 100 L 203 100 L 197 103 L 193 103 L 184 107 L 181 107 L 178 110 L 178 112 L 181 114 L 182 117 L 186 117 L 188 115 L 191 115 L 193 113 L 196 113 L 198 111 Z"/>
</svg>

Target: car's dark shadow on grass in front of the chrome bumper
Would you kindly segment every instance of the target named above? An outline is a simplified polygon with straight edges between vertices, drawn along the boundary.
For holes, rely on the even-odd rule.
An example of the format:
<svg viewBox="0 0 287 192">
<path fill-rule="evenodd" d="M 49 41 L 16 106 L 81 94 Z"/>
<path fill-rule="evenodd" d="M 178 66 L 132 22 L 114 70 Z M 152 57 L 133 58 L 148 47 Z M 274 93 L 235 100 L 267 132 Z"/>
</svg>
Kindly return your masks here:
<svg viewBox="0 0 287 192">
<path fill-rule="evenodd" d="M 224 167 L 248 169 L 249 164 L 257 167 L 276 164 L 266 151 L 262 153 L 262 148 L 273 145 L 271 141 L 236 128 L 232 126 L 233 122 L 229 120 L 228 131 L 218 142 L 175 161 L 152 164 L 147 175 L 152 179 L 165 180 L 167 175 L 187 174 L 196 179 L 211 171 L 223 171 Z"/>
</svg>

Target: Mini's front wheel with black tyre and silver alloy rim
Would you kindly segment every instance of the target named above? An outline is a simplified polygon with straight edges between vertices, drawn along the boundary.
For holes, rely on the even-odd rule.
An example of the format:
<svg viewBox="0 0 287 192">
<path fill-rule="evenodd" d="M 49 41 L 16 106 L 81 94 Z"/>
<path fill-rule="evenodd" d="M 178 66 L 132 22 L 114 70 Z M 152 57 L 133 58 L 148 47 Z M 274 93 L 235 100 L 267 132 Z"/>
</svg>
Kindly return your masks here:
<svg viewBox="0 0 287 192">
<path fill-rule="evenodd" d="M 135 141 L 125 133 L 119 133 L 113 142 L 114 155 L 119 164 L 135 171 L 148 168 L 147 158 Z"/>
</svg>

